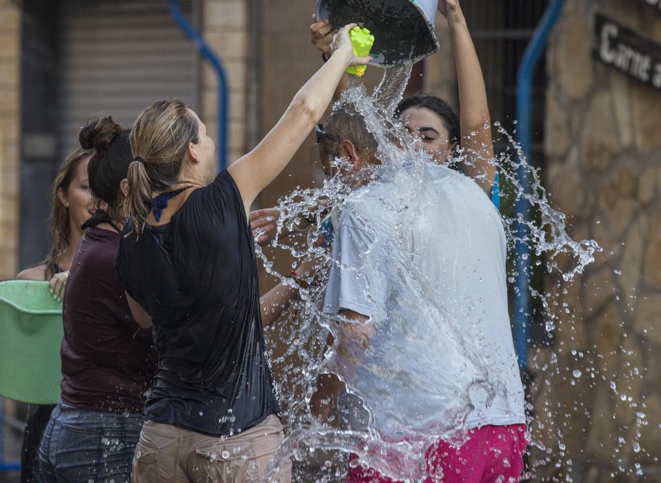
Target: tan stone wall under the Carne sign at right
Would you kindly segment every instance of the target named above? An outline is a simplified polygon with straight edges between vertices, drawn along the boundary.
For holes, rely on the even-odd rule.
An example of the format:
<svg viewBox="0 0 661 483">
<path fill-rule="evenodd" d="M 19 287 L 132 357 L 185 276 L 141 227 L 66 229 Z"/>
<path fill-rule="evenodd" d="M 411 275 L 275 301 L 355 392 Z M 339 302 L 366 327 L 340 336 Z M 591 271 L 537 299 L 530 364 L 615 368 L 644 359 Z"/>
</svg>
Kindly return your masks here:
<svg viewBox="0 0 661 483">
<path fill-rule="evenodd" d="M 591 57 L 595 12 L 652 39 L 642 1 L 568 0 L 548 50 L 548 187 L 602 253 L 549 279 L 555 345 L 531 351 L 535 480 L 661 481 L 661 91 Z"/>
</svg>

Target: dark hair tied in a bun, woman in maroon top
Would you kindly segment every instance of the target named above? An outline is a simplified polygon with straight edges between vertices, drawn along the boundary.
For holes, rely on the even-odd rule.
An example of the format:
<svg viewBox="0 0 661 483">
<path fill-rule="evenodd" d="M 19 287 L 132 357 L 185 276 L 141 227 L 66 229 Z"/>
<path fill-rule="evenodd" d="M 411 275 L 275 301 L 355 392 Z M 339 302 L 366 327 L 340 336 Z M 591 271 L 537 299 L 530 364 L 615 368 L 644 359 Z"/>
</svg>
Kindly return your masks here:
<svg viewBox="0 0 661 483">
<path fill-rule="evenodd" d="M 92 119 L 81 129 L 81 147 L 94 150 L 87 172 L 90 190 L 97 204 L 97 214 L 86 226 L 108 222 L 108 219 L 117 219 L 119 215 L 124 204 L 124 194 L 119 184 L 126 178 L 128 166 L 133 159 L 128 142 L 129 133 L 130 129 L 124 128 L 110 116 Z M 102 203 L 106 206 L 105 210 L 101 210 Z"/>
</svg>

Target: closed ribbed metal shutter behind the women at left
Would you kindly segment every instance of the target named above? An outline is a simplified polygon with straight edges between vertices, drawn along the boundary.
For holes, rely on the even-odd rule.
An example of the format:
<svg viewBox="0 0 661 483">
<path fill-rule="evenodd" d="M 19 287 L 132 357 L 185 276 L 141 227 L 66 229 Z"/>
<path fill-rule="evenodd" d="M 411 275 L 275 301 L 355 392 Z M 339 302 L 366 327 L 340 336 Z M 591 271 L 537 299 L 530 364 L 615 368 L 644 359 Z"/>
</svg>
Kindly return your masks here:
<svg viewBox="0 0 661 483">
<path fill-rule="evenodd" d="M 181 1 L 190 19 L 193 1 Z M 170 17 L 166 0 L 61 1 L 59 147 L 78 144 L 91 117 L 131 126 L 154 101 L 177 97 L 197 106 L 197 50 Z"/>
</svg>

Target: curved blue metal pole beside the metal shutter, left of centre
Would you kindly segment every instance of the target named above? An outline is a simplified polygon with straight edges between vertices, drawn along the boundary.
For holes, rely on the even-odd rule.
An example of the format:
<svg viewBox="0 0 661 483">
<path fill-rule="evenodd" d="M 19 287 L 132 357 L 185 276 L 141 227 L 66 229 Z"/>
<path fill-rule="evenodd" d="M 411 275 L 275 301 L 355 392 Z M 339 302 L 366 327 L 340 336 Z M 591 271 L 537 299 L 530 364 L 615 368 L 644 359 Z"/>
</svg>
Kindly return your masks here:
<svg viewBox="0 0 661 483">
<path fill-rule="evenodd" d="M 228 159 L 228 143 L 227 143 L 227 131 L 228 131 L 228 118 L 229 118 L 229 88 L 227 75 L 223 63 L 219 57 L 211 50 L 204 41 L 204 37 L 201 36 L 195 28 L 190 24 L 184 12 L 181 12 L 179 7 L 178 0 L 168 0 L 168 8 L 170 8 L 170 14 L 172 19 L 175 20 L 177 26 L 181 28 L 186 35 L 186 38 L 190 39 L 195 43 L 197 49 L 204 59 L 206 59 L 213 70 L 215 70 L 218 77 L 218 99 L 217 99 L 217 117 L 218 117 L 218 134 L 217 134 L 217 152 L 218 152 L 218 170 L 222 171 L 227 168 L 227 159 Z"/>
</svg>

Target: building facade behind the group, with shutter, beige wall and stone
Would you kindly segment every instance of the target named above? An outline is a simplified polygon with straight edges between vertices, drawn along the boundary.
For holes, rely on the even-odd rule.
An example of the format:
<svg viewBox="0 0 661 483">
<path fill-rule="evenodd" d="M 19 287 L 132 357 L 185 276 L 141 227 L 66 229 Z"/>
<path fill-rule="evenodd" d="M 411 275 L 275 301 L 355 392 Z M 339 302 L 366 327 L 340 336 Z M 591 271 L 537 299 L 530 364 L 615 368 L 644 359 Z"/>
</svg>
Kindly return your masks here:
<svg viewBox="0 0 661 483">
<path fill-rule="evenodd" d="M 491 117 L 509 128 L 517 65 L 547 3 L 462 1 Z M 545 282 L 558 324 L 553 342 L 533 346 L 529 359 L 533 480 L 661 481 L 661 90 L 653 66 L 644 81 L 644 65 L 633 66 L 640 56 L 616 46 L 612 30 L 602 45 L 597 29 L 606 17 L 645 39 L 640 45 L 661 43 L 658 3 L 566 0 L 535 78 L 533 164 L 568 215 L 570 235 L 603 250 L 573 284 Z M 308 34 L 314 2 L 179 4 L 228 73 L 233 161 L 319 67 Z M 441 50 L 417 67 L 410 90 L 457 106 L 443 19 L 437 32 Z M 368 69 L 366 83 L 379 73 Z M 130 125 L 151 101 L 176 96 L 215 139 L 217 91 L 215 73 L 165 0 L 0 0 L 0 279 L 46 254 L 50 182 L 87 119 L 113 115 Z M 259 206 L 318 183 L 315 158 L 310 137 Z"/>
</svg>

